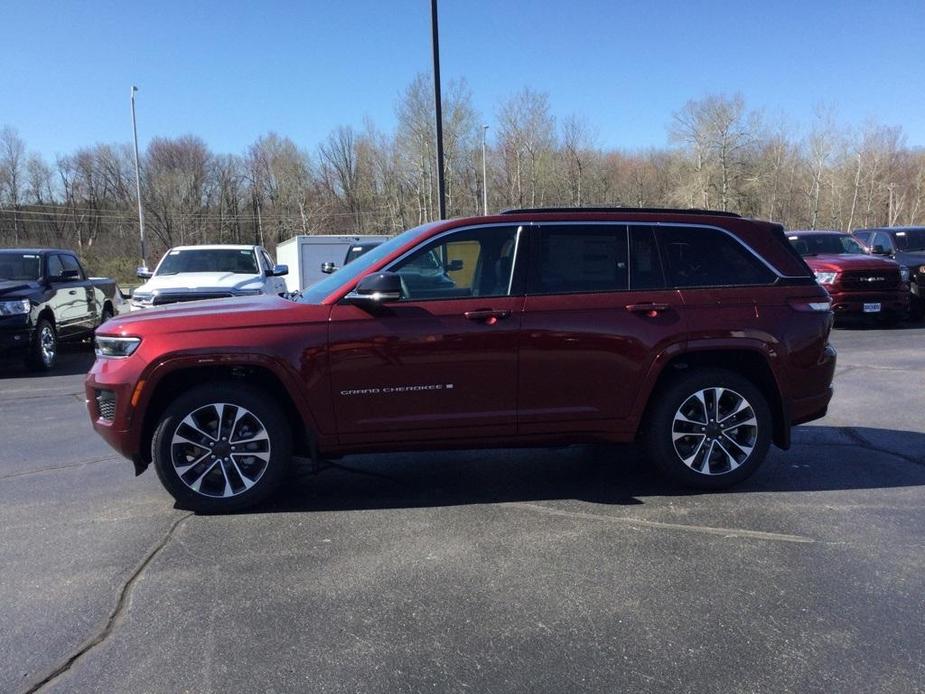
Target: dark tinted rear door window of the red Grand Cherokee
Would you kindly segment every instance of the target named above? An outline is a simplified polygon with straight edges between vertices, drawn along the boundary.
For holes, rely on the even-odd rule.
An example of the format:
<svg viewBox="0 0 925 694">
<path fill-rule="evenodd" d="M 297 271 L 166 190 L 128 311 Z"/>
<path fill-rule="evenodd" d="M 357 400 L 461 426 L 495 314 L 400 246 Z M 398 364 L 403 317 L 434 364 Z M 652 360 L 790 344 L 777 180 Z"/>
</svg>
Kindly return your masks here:
<svg viewBox="0 0 925 694">
<path fill-rule="evenodd" d="M 612 292 L 628 286 L 626 227 L 563 224 L 535 233 L 529 292 Z"/>
</svg>

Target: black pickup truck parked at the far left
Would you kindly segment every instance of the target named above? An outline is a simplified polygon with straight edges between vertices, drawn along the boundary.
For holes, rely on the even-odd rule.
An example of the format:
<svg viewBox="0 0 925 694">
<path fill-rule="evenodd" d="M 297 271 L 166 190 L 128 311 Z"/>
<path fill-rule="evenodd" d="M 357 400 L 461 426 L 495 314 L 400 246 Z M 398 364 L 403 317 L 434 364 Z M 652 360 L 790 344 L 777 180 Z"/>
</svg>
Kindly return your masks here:
<svg viewBox="0 0 925 694">
<path fill-rule="evenodd" d="M 71 251 L 0 249 L 0 356 L 48 371 L 60 341 L 92 337 L 121 304 L 115 281 L 87 277 Z"/>
</svg>

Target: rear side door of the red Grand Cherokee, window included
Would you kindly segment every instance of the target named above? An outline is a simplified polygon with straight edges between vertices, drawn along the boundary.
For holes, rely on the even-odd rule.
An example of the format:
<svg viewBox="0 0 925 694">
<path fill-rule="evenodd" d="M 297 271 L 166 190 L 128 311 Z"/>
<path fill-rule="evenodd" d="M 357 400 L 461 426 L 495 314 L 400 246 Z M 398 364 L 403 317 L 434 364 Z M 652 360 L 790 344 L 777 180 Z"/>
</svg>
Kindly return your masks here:
<svg viewBox="0 0 925 694">
<path fill-rule="evenodd" d="M 683 336 L 651 227 L 531 229 L 518 432 L 624 428 L 655 355 Z"/>
</svg>

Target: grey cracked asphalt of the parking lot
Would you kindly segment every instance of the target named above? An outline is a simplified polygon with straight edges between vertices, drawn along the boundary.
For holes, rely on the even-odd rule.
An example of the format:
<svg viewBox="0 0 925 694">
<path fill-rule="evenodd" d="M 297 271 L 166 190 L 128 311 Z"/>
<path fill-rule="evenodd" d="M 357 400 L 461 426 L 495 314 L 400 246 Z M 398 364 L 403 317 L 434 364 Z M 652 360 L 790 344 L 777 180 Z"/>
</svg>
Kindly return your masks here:
<svg viewBox="0 0 925 694">
<path fill-rule="evenodd" d="M 352 456 L 173 508 L 82 378 L 0 367 L 0 691 L 925 691 L 925 327 L 840 329 L 746 483 L 631 446 Z"/>
</svg>

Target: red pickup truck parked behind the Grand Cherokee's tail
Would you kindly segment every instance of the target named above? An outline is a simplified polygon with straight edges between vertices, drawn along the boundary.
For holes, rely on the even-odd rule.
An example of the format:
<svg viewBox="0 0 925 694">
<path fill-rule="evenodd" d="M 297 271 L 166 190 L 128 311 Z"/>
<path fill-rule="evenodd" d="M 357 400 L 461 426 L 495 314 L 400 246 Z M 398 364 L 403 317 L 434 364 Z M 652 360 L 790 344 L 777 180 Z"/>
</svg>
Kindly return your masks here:
<svg viewBox="0 0 925 694">
<path fill-rule="evenodd" d="M 908 268 L 867 255 L 850 234 L 840 231 L 790 231 L 787 238 L 828 290 L 836 318 L 869 317 L 895 324 L 908 315 Z"/>
</svg>

